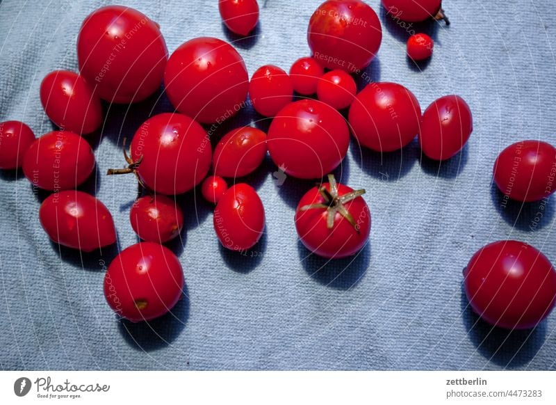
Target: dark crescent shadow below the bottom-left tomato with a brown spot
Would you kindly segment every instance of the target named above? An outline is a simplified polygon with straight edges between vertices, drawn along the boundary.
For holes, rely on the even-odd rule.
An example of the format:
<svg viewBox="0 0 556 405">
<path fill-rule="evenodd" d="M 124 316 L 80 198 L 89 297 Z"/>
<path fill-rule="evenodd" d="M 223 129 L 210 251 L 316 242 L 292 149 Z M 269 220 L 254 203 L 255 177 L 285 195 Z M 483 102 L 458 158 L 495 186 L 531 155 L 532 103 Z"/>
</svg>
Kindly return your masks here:
<svg viewBox="0 0 556 405">
<path fill-rule="evenodd" d="M 138 351 L 153 351 L 172 344 L 189 319 L 189 292 L 183 285 L 181 299 L 167 314 L 151 321 L 131 322 L 120 319 L 118 329 L 124 340 Z"/>
</svg>

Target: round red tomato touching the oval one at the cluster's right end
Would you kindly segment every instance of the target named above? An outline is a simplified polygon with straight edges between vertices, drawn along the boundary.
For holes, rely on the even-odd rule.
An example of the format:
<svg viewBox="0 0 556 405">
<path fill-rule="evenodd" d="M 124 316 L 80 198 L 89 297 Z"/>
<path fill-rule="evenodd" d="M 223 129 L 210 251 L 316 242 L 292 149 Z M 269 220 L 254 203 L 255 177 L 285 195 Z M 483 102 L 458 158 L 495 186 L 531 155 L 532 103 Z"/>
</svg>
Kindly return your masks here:
<svg viewBox="0 0 556 405">
<path fill-rule="evenodd" d="M 379 152 L 410 143 L 419 132 L 421 109 L 411 91 L 395 83 L 371 83 L 350 108 L 350 125 L 357 141 Z"/>
</svg>

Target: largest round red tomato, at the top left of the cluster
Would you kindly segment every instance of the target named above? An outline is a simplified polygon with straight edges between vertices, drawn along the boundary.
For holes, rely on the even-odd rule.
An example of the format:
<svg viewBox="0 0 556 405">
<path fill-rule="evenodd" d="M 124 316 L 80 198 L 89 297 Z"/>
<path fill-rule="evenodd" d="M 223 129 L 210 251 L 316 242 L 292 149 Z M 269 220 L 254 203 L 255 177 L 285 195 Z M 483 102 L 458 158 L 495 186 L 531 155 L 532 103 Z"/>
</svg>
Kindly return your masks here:
<svg viewBox="0 0 556 405">
<path fill-rule="evenodd" d="M 138 102 L 152 95 L 162 83 L 167 58 L 158 24 L 130 7 L 95 10 L 77 38 L 79 71 L 108 102 Z"/>
</svg>

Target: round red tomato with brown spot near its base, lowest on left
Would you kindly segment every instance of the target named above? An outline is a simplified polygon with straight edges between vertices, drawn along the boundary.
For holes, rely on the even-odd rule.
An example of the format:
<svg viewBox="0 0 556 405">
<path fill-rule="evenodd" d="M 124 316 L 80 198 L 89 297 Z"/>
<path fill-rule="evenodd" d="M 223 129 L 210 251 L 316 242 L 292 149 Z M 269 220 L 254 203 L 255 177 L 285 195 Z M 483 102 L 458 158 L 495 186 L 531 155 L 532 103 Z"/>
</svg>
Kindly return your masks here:
<svg viewBox="0 0 556 405">
<path fill-rule="evenodd" d="M 169 312 L 181 298 L 183 270 L 169 248 L 141 242 L 124 249 L 108 266 L 104 296 L 108 305 L 132 322 Z"/>
</svg>

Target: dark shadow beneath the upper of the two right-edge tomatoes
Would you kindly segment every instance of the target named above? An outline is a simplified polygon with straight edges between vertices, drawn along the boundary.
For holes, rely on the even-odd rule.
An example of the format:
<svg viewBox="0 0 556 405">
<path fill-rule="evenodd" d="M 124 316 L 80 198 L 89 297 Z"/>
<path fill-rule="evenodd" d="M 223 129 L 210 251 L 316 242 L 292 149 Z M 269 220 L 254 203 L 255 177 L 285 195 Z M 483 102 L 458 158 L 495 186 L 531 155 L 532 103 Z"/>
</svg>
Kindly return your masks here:
<svg viewBox="0 0 556 405">
<path fill-rule="evenodd" d="M 512 200 L 494 182 L 491 184 L 491 200 L 502 219 L 518 230 L 534 232 L 550 225 L 554 218 L 554 205 L 550 198 L 532 202 Z"/>
</svg>

